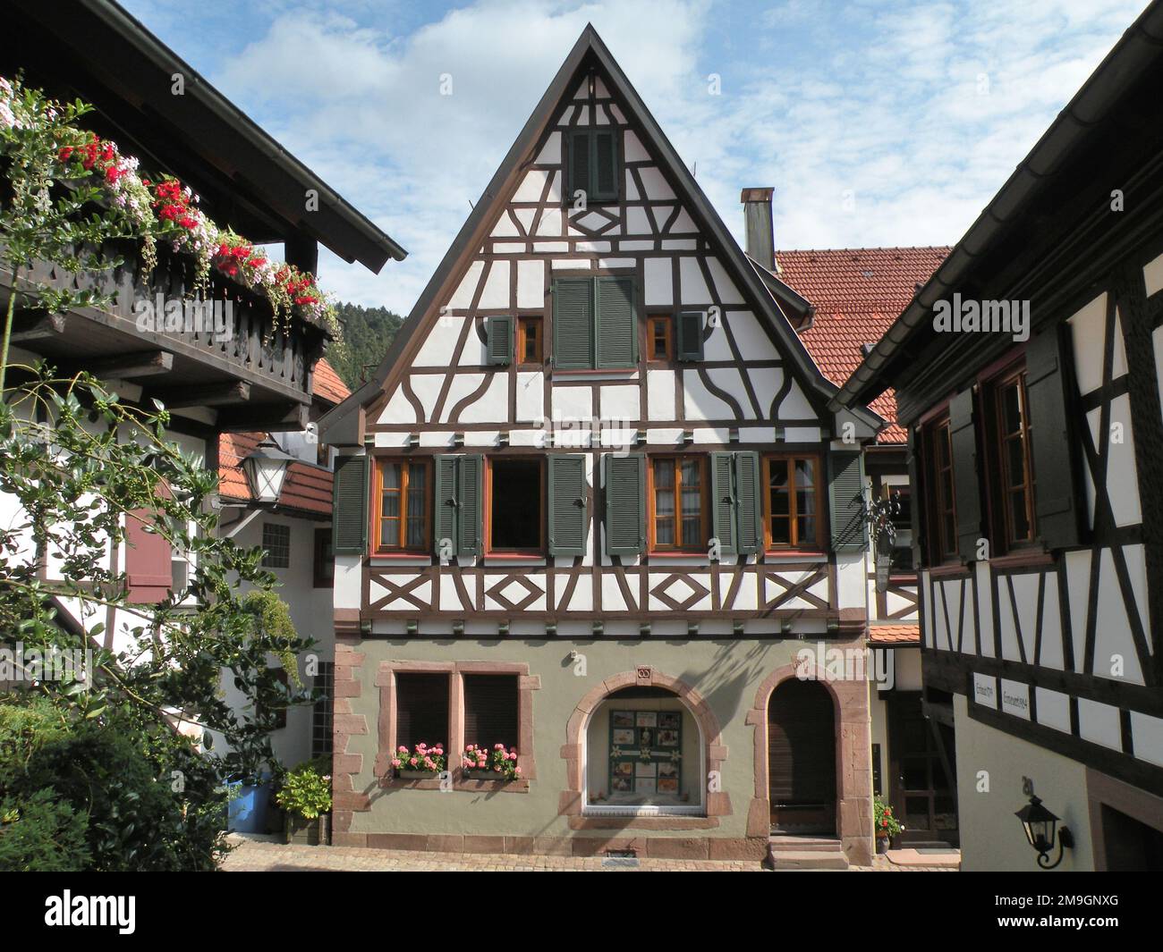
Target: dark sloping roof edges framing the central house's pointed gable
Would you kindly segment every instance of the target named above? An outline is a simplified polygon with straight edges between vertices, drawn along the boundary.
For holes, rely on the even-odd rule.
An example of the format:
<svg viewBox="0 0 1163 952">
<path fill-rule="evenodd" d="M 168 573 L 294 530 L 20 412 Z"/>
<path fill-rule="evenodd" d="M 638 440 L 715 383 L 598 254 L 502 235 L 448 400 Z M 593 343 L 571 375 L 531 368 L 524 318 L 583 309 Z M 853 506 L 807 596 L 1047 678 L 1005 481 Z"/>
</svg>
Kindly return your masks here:
<svg viewBox="0 0 1163 952">
<path fill-rule="evenodd" d="M 675 192 L 673 202 L 679 214 L 688 214 L 694 220 L 693 224 L 700 236 L 709 242 L 722 265 L 729 270 L 747 303 L 765 323 L 775 346 L 787 363 L 792 378 L 804 388 L 808 400 L 820 408 L 821 415 L 825 413 L 823 407 L 836 393 L 836 387 L 819 373 L 780 309 L 778 300 L 772 296 L 736 244 L 605 43 L 593 27 L 587 26 L 416 300 L 373 377 L 321 420 L 321 431 L 328 443 L 352 445 L 359 442 L 363 423 L 362 414 L 357 410 L 370 407 L 390 393 L 400 374 L 411 366 L 423 343 L 421 331 L 426 318 L 434 318 L 435 307 L 452 296 L 469 266 L 470 257 L 481 246 L 490 232 L 495 236 L 495 224 L 502 205 L 521 185 L 526 167 L 534 163 L 545 148 L 551 123 L 561 109 L 576 98 L 591 67 L 600 80 L 608 84 L 611 95 L 623 103 L 628 116 L 633 117 L 641 135 L 642 146 L 658 164 Z M 866 410 L 857 413 L 857 416 L 873 429 L 880 423 L 879 417 Z"/>
</svg>

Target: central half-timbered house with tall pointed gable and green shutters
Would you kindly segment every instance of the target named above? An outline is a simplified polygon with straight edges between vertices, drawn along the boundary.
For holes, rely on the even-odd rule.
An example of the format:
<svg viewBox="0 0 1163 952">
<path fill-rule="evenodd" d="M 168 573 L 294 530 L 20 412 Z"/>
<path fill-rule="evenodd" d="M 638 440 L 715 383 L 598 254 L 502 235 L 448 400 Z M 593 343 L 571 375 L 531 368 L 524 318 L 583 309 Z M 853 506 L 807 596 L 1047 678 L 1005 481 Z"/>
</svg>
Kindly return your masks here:
<svg viewBox="0 0 1163 952">
<path fill-rule="evenodd" d="M 762 857 L 775 830 L 868 860 L 869 699 L 844 659 L 882 421 L 828 409 L 806 313 L 587 27 L 321 423 L 342 453 L 336 843 Z M 448 775 L 409 775 L 421 743 Z M 516 779 L 462 770 L 495 744 Z"/>
</svg>

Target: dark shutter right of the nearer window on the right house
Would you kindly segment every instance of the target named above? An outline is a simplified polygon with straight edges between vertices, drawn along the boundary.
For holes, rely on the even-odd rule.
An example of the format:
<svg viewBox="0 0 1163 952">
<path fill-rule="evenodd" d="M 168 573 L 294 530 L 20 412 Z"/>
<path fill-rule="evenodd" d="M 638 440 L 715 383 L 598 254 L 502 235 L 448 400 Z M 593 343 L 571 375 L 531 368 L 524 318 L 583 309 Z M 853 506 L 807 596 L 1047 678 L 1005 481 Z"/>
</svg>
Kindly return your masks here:
<svg viewBox="0 0 1163 952">
<path fill-rule="evenodd" d="M 1071 406 L 1071 391 L 1059 327 L 1054 325 L 1026 346 L 1034 511 L 1037 535 L 1049 549 L 1083 541 L 1086 503 L 1078 488 L 1078 439 L 1071 425 L 1082 415 Z"/>
</svg>

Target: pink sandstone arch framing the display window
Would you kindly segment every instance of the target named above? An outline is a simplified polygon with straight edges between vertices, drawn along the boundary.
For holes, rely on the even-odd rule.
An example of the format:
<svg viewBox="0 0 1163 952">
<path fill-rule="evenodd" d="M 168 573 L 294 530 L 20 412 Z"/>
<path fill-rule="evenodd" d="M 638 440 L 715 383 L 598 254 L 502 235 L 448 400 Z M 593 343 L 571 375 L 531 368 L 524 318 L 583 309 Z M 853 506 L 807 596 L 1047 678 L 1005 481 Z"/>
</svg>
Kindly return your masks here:
<svg viewBox="0 0 1163 952">
<path fill-rule="evenodd" d="M 627 687 L 658 687 L 665 688 L 677 695 L 694 717 L 702 733 L 704 739 L 704 763 L 707 773 L 722 771 L 722 764 L 727 759 L 727 747 L 722 743 L 722 731 L 719 728 L 719 718 L 715 717 L 711 706 L 704 700 L 694 688 L 678 678 L 663 674 L 654 668 L 640 668 L 637 671 L 623 671 L 607 678 L 600 685 L 588 690 L 578 701 L 577 707 L 570 715 L 565 725 L 565 744 L 562 747 L 562 759 L 565 760 L 566 789 L 562 790 L 558 800 L 558 814 L 563 816 L 580 816 L 584 807 L 583 789 L 585 782 L 583 778 L 584 759 L 583 745 L 585 743 L 586 725 L 590 716 L 598 706 L 611 694 Z M 730 795 L 726 790 L 707 792 L 706 815 L 728 816 L 730 809 Z"/>
</svg>

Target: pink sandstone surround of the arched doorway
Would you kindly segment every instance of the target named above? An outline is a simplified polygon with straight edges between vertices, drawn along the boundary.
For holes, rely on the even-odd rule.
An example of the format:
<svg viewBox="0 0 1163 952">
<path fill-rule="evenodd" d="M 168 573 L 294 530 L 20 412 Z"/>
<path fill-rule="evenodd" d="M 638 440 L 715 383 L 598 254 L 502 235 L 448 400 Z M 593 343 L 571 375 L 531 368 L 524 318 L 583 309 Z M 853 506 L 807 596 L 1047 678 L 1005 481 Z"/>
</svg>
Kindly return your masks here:
<svg viewBox="0 0 1163 952">
<path fill-rule="evenodd" d="M 747 835 L 766 837 L 771 829 L 768 790 L 768 702 L 782 682 L 812 679 L 828 689 L 836 723 L 836 833 L 849 862 L 872 861 L 872 749 L 869 683 L 864 679 L 833 680 L 808 660 L 776 668 L 755 692 L 745 723 L 754 728 L 755 794 L 747 813 Z"/>
</svg>

